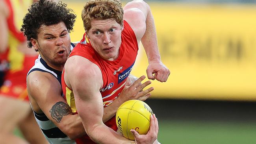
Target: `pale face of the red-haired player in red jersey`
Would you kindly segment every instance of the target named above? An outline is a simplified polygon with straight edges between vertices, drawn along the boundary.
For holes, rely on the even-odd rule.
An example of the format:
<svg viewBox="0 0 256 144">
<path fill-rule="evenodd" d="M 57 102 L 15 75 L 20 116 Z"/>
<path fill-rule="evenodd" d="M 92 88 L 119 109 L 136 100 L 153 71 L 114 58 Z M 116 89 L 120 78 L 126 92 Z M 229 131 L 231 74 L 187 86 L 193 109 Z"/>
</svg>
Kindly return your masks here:
<svg viewBox="0 0 256 144">
<path fill-rule="evenodd" d="M 113 61 L 119 56 L 122 30 L 123 27 L 113 18 L 106 20 L 92 19 L 87 37 L 100 57 Z"/>
</svg>

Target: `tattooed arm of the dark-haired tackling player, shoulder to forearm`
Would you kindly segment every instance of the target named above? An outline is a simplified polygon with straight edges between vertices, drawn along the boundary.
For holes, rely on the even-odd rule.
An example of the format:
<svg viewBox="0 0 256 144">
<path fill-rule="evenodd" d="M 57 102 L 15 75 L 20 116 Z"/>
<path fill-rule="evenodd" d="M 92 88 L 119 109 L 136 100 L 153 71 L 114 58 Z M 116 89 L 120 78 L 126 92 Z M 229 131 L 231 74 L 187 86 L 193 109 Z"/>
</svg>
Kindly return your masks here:
<svg viewBox="0 0 256 144">
<path fill-rule="evenodd" d="M 85 135 L 78 114 L 72 115 L 69 105 L 61 96 L 61 85 L 52 74 L 31 72 L 27 78 L 28 96 L 33 110 L 45 115 L 69 138 Z"/>
</svg>

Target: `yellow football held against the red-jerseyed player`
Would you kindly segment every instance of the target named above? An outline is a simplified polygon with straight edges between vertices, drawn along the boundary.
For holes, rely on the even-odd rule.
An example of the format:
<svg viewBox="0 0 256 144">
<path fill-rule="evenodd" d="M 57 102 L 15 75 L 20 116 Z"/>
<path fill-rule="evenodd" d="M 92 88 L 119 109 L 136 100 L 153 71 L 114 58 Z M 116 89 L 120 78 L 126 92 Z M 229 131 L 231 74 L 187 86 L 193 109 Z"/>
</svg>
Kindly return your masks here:
<svg viewBox="0 0 256 144">
<path fill-rule="evenodd" d="M 150 125 L 150 115 L 153 114 L 147 103 L 141 100 L 128 100 L 117 110 L 116 122 L 119 131 L 125 138 L 134 140 L 131 129 L 140 135 L 146 135 Z"/>
</svg>

